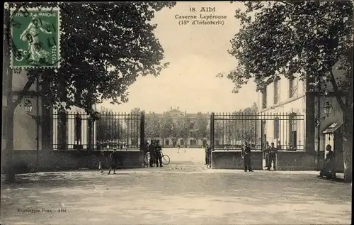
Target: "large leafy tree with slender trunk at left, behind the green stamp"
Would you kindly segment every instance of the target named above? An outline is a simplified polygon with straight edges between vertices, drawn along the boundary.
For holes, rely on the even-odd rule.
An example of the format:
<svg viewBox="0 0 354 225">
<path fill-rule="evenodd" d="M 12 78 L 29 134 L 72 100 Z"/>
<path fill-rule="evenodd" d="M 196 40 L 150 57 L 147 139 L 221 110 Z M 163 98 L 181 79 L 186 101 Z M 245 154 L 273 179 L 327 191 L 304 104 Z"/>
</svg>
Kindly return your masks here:
<svg viewBox="0 0 354 225">
<path fill-rule="evenodd" d="M 11 3 L 4 9 L 4 76 L 6 108 L 6 180 L 14 181 L 13 112 L 25 93 L 38 82 L 48 106 L 61 110 L 72 105 L 92 113 L 92 104 L 108 99 L 113 104 L 127 101 L 127 88 L 137 77 L 157 76 L 167 66 L 164 50 L 154 35 L 154 13 L 174 2 L 122 3 Z M 10 65 L 11 24 L 9 8 L 59 7 L 61 9 L 61 67 L 56 70 L 30 69 L 28 82 L 16 101 L 12 101 Z M 62 104 L 62 103 L 65 104 Z"/>
</svg>

